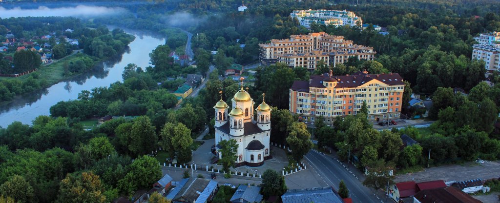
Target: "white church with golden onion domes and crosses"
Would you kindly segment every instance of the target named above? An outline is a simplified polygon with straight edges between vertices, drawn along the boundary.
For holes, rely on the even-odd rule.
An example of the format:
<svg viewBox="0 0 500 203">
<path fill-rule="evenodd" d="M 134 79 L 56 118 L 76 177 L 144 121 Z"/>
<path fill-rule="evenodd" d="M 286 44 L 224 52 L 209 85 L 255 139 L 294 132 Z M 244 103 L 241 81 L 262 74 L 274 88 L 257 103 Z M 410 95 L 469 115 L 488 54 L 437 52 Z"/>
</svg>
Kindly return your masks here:
<svg viewBox="0 0 500 203">
<path fill-rule="evenodd" d="M 265 94 L 263 94 L 265 96 Z M 215 150 L 217 157 L 221 155 L 219 141 L 235 139 L 238 144 L 235 165 L 259 166 L 264 159 L 270 158 L 269 137 L 271 129 L 271 108 L 262 99 L 262 103 L 253 109 L 253 99 L 247 91 L 237 91 L 232 101 L 232 109 L 220 100 L 213 106 L 215 109 Z M 256 120 L 253 119 L 256 113 Z"/>
</svg>

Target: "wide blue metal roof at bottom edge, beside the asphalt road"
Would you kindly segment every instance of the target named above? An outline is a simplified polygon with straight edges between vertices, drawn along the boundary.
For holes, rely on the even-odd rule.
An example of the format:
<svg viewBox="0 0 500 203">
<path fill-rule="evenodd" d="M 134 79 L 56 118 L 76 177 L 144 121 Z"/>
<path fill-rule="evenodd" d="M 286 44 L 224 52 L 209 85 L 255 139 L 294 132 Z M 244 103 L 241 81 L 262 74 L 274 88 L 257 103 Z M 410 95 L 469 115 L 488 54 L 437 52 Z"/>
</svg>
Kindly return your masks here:
<svg viewBox="0 0 500 203">
<path fill-rule="evenodd" d="M 343 203 L 331 187 L 288 190 L 281 195 L 283 203 Z"/>
</svg>

